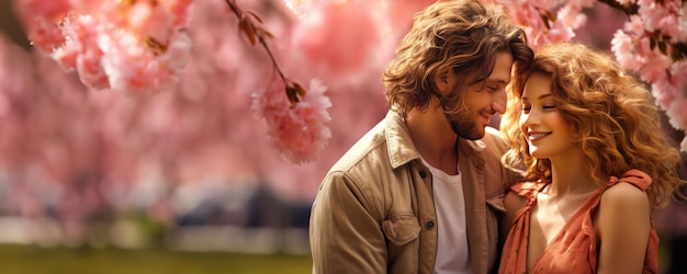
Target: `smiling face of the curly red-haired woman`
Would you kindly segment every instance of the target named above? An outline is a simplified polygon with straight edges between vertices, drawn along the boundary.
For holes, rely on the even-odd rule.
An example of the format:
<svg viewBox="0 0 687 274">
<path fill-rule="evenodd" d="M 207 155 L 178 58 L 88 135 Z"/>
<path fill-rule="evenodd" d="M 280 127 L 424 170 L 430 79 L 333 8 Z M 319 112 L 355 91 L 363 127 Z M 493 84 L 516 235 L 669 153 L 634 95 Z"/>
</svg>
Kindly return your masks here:
<svg viewBox="0 0 687 274">
<path fill-rule="evenodd" d="M 534 72 L 528 78 L 520 98 L 520 129 L 527 136 L 532 157 L 564 159 L 571 152 L 579 152 L 579 148 L 571 138 L 551 87 L 551 78 L 544 73 Z"/>
</svg>

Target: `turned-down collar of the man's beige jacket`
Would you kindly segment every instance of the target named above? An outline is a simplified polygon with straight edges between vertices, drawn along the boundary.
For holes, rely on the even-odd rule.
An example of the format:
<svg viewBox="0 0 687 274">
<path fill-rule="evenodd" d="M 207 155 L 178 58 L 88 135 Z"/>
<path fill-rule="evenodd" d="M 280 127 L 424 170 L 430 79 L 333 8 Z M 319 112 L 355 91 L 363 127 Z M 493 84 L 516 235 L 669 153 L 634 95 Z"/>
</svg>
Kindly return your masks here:
<svg viewBox="0 0 687 274">
<path fill-rule="evenodd" d="M 384 134 L 386 137 L 386 148 L 388 149 L 388 161 L 393 169 L 406 164 L 413 160 L 420 159 L 417 152 L 410 132 L 405 123 L 405 118 L 399 113 L 390 110 L 386 113 Z M 461 149 L 462 148 L 462 149 Z M 482 140 L 468 140 L 459 138 L 459 150 L 468 157 L 484 150 Z"/>
</svg>

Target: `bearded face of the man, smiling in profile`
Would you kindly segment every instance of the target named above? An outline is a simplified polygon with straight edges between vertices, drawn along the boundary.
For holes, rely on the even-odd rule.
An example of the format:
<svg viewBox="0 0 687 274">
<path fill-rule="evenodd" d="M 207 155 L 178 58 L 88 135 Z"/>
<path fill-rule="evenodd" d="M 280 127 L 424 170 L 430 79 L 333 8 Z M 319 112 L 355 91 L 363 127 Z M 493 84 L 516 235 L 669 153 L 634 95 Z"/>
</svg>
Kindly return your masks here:
<svg viewBox="0 0 687 274">
<path fill-rule="evenodd" d="M 506 110 L 506 85 L 510 82 L 513 55 L 499 53 L 496 56 L 494 71 L 484 81 L 469 87 L 464 92 L 465 107 L 458 114 L 446 114 L 451 129 L 458 136 L 470 140 L 484 137 L 485 127 L 494 114 Z"/>
</svg>

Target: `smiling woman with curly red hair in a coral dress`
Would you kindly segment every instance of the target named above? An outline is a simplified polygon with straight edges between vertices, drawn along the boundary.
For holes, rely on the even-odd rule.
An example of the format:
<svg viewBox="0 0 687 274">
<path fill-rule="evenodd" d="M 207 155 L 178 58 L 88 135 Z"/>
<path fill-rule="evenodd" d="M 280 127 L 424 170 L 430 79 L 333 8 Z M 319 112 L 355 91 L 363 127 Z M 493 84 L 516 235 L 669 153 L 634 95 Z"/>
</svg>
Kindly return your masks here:
<svg viewBox="0 0 687 274">
<path fill-rule="evenodd" d="M 511 88 L 503 161 L 528 182 L 505 199 L 499 273 L 657 273 L 652 208 L 682 181 L 651 93 L 578 43 L 541 48 Z"/>
</svg>

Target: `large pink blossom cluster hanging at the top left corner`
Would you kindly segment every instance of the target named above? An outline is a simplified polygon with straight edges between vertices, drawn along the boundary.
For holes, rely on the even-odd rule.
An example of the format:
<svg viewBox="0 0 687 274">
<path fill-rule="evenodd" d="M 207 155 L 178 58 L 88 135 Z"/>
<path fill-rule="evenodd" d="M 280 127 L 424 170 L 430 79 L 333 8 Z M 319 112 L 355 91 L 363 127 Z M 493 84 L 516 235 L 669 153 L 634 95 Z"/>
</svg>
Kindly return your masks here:
<svg viewBox="0 0 687 274">
<path fill-rule="evenodd" d="M 145 92 L 178 82 L 193 0 L 14 0 L 33 45 L 93 89 Z"/>
</svg>

